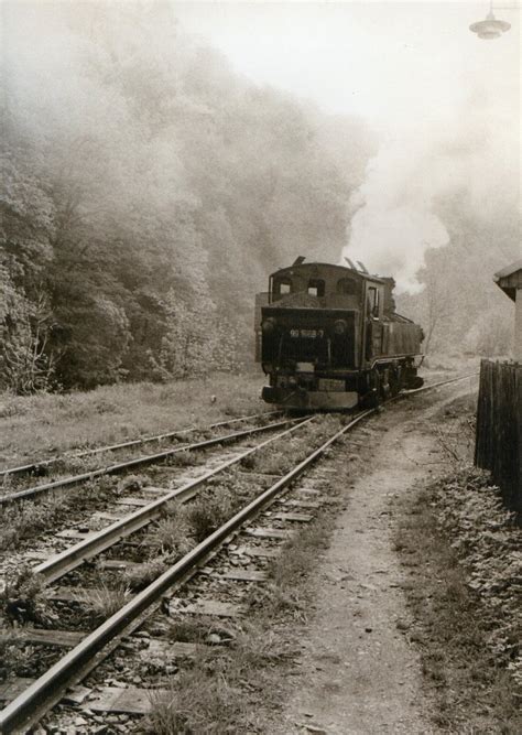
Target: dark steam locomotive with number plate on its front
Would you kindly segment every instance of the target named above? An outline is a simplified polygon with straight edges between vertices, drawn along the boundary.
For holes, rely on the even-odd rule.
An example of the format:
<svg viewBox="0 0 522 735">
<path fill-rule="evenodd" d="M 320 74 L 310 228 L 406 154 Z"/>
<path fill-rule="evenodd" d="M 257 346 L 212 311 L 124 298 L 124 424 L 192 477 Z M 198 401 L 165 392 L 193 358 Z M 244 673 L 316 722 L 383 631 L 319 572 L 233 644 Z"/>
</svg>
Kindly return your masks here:
<svg viewBox="0 0 522 735">
<path fill-rule="evenodd" d="M 395 312 L 392 278 L 365 266 L 305 263 L 270 277 L 255 298 L 257 360 L 268 403 L 289 409 L 376 406 L 420 388 L 422 328 Z"/>
</svg>

